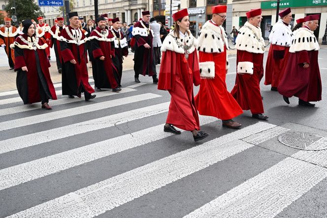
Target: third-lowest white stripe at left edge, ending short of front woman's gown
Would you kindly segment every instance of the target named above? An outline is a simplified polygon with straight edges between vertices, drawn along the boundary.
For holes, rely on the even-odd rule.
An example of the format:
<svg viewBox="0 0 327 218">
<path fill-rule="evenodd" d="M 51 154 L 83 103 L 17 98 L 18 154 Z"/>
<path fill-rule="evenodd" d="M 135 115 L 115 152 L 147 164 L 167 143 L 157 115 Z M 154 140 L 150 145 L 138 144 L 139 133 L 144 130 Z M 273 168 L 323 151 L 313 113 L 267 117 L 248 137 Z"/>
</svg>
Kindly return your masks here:
<svg viewBox="0 0 327 218">
<path fill-rule="evenodd" d="M 88 112 L 94 112 L 94 111 L 98 111 L 98 110 L 102 110 L 102 109 L 106 109 L 106 108 L 116 107 L 116 106 L 134 103 L 134 102 L 138 102 L 138 101 L 144 101 L 144 100 L 148 100 L 148 99 L 153 99 L 156 97 L 161 97 L 161 95 L 153 94 L 153 93 L 144 93 L 144 94 L 133 95 L 133 96 L 109 100 L 109 101 L 103 101 L 100 103 L 88 104 L 88 105 L 84 105 L 84 106 L 80 106 L 80 107 L 75 107 L 73 109 L 69 108 L 69 109 L 54 111 L 54 112 L 50 112 L 50 113 L 46 113 L 46 114 L 39 114 L 39 115 L 35 115 L 35 116 L 5 121 L 5 122 L 0 123 L 0 131 L 11 129 L 11 128 L 17 128 L 17 127 L 21 127 L 21 126 L 26 126 L 26 125 L 33 125 L 33 124 L 38 124 L 38 123 L 42 123 L 42 122 L 48 122 L 48 121 L 65 118 L 65 117 L 70 117 L 70 116 L 74 116 L 74 115 L 79 115 L 79 114 L 84 114 L 84 113 L 88 113 Z"/>
</svg>

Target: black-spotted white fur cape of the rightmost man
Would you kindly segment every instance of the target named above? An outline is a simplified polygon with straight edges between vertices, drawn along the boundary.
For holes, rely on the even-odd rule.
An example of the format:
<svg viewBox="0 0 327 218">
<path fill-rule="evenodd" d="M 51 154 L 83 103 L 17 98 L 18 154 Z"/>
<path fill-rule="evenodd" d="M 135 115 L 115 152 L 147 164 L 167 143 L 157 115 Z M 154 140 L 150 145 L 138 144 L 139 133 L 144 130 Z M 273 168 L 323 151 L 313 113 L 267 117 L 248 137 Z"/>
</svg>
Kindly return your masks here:
<svg viewBox="0 0 327 218">
<path fill-rule="evenodd" d="M 313 34 L 313 31 L 307 28 L 299 28 L 294 31 L 292 45 L 290 47 L 291 53 L 299 51 L 318 51 L 319 49 L 318 40 Z"/>
</svg>

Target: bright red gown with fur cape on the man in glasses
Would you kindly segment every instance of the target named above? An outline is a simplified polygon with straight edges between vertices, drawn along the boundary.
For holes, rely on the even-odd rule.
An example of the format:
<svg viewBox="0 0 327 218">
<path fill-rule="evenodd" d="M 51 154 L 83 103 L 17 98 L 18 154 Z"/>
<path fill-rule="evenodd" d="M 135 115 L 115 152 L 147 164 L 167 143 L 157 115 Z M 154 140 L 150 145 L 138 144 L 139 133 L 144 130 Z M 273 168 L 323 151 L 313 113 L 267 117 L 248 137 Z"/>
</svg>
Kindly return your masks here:
<svg viewBox="0 0 327 218">
<path fill-rule="evenodd" d="M 225 41 L 217 37 L 205 37 L 211 30 L 215 30 L 220 34 L 223 31 L 217 25 L 208 21 L 203 25 L 199 35 L 199 62 L 200 68 L 205 67 L 206 63 L 214 62 L 214 79 L 201 79 L 200 90 L 195 96 L 196 107 L 201 115 L 216 117 L 221 120 L 230 120 L 242 114 L 242 108 L 238 105 L 233 96 L 228 92 L 226 86 L 226 70 L 227 70 L 227 52 Z M 210 33 L 211 35 L 211 33 Z M 203 52 L 203 47 L 211 47 L 216 44 L 222 49 L 216 52 Z M 208 49 L 206 50 L 208 51 Z M 209 50 L 210 51 L 210 50 Z M 203 65 L 202 65 L 203 64 Z"/>
</svg>

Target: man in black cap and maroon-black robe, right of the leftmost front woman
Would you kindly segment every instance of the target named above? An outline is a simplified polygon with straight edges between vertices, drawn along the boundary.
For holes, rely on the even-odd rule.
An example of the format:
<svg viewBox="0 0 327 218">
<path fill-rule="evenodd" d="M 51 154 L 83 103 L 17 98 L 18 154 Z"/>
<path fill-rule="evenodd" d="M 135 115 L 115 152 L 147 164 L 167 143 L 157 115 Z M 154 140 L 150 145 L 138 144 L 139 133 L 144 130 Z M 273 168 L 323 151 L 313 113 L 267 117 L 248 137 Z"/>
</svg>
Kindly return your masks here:
<svg viewBox="0 0 327 218">
<path fill-rule="evenodd" d="M 94 89 L 89 84 L 89 74 L 86 66 L 85 34 L 78 29 L 77 12 L 68 13 L 70 25 L 61 32 L 60 49 L 62 53 L 62 83 L 63 95 L 73 98 L 81 97 L 84 92 L 85 101 L 95 98 Z"/>
</svg>

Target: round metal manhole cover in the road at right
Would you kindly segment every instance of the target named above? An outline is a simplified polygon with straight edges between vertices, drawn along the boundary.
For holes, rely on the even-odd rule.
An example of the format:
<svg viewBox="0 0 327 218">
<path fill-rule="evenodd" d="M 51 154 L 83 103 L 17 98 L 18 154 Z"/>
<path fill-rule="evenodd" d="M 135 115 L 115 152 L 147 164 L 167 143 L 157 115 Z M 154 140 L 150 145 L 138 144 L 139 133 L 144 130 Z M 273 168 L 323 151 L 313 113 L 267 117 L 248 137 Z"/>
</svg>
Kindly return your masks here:
<svg viewBox="0 0 327 218">
<path fill-rule="evenodd" d="M 301 150 L 318 151 L 327 149 L 327 138 L 308 132 L 287 132 L 279 135 L 278 141 Z"/>
</svg>

